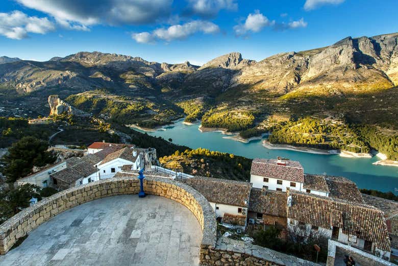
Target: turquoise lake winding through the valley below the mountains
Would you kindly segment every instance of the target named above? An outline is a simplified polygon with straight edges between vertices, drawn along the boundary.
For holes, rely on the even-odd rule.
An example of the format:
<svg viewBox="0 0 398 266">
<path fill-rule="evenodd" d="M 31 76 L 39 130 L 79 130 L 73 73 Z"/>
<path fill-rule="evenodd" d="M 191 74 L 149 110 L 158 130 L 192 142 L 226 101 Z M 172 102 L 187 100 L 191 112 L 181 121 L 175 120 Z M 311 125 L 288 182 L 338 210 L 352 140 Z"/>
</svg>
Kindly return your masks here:
<svg viewBox="0 0 398 266">
<path fill-rule="evenodd" d="M 357 183 L 359 188 L 394 191 L 398 188 L 398 167 L 374 165 L 373 158 L 344 158 L 339 155 L 311 154 L 289 150 L 269 150 L 261 140 L 249 143 L 223 138 L 220 132 L 200 132 L 199 125 L 188 126 L 183 119 L 164 129 L 147 132 L 149 135 L 172 139 L 173 143 L 189 148 L 206 148 L 212 151 L 233 153 L 247 158 L 277 158 L 278 156 L 300 161 L 305 173 L 343 176 Z M 140 130 L 138 130 L 140 131 Z M 143 132 L 143 131 L 140 131 Z M 398 194 L 395 192 L 395 194 Z"/>
</svg>

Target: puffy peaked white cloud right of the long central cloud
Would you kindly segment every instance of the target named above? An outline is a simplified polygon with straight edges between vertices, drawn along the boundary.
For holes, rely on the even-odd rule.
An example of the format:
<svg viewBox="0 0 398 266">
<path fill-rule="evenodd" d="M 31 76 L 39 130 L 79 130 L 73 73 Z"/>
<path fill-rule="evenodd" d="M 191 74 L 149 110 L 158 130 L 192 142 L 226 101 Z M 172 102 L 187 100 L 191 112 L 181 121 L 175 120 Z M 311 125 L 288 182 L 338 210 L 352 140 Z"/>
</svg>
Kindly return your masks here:
<svg viewBox="0 0 398 266">
<path fill-rule="evenodd" d="M 234 26 L 234 31 L 237 36 L 241 36 L 249 32 L 259 32 L 264 27 L 273 25 L 275 25 L 275 20 L 270 21 L 259 10 L 256 10 L 253 14 L 248 14 L 243 24 Z"/>
</svg>

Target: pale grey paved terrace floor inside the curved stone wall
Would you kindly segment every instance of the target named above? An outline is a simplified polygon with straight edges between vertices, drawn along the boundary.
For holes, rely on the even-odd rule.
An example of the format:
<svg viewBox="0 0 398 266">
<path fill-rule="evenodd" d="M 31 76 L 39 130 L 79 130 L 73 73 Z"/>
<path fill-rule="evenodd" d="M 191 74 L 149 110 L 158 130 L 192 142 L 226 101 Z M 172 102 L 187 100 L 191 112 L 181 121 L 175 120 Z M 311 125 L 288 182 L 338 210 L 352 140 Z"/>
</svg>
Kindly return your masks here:
<svg viewBox="0 0 398 266">
<path fill-rule="evenodd" d="M 33 230 L 0 265 L 198 265 L 202 231 L 177 202 L 104 198 L 69 209 Z"/>
</svg>

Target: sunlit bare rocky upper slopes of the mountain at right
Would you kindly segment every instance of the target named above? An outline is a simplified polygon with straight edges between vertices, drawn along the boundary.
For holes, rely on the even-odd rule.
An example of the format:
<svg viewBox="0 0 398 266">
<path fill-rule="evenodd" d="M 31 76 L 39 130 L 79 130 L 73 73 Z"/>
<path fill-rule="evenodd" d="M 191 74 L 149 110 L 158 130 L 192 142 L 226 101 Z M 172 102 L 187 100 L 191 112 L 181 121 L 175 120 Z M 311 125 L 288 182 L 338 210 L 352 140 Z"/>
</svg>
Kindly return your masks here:
<svg viewBox="0 0 398 266">
<path fill-rule="evenodd" d="M 321 49 L 290 52 L 242 68 L 232 86 L 278 92 L 390 88 L 397 84 L 398 34 L 347 37 Z"/>
</svg>

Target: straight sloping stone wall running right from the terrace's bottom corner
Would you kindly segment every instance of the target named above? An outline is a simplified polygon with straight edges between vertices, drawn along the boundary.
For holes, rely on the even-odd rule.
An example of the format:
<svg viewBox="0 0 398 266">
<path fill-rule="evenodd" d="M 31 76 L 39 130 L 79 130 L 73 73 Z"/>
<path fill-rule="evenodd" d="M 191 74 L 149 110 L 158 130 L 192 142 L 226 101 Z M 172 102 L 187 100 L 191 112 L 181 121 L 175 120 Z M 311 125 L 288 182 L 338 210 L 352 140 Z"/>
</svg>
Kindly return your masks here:
<svg viewBox="0 0 398 266">
<path fill-rule="evenodd" d="M 233 240 L 227 237 L 218 237 L 215 248 L 203 247 L 201 250 L 201 263 L 209 265 L 287 265 L 287 266 L 319 266 L 319 264 L 286 255 L 271 249 L 263 248 Z"/>
</svg>

